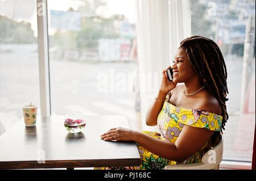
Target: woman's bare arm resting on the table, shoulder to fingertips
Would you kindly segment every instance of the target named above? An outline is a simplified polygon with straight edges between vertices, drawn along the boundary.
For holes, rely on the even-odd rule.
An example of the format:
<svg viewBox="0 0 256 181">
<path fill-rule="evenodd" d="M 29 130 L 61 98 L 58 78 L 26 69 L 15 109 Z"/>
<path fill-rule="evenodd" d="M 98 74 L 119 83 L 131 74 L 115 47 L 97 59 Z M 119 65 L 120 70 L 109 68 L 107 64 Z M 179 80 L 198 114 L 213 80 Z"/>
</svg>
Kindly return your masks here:
<svg viewBox="0 0 256 181">
<path fill-rule="evenodd" d="M 213 131 L 205 128 L 184 125 L 175 144 L 126 128 L 110 129 L 107 133 L 102 134 L 101 138 L 105 141 L 135 141 L 151 153 L 173 161 L 182 162 L 202 148 L 212 134 Z"/>
</svg>

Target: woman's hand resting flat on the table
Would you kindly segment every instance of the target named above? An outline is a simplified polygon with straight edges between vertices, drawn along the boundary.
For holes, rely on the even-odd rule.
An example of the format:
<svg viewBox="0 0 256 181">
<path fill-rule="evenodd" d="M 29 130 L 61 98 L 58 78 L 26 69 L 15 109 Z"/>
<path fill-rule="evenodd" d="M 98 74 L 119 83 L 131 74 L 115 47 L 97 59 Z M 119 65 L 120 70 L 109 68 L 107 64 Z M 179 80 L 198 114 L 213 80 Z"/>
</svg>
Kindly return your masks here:
<svg viewBox="0 0 256 181">
<path fill-rule="evenodd" d="M 133 141 L 133 131 L 126 128 L 112 128 L 108 132 L 101 135 L 101 139 L 105 141 Z"/>
</svg>

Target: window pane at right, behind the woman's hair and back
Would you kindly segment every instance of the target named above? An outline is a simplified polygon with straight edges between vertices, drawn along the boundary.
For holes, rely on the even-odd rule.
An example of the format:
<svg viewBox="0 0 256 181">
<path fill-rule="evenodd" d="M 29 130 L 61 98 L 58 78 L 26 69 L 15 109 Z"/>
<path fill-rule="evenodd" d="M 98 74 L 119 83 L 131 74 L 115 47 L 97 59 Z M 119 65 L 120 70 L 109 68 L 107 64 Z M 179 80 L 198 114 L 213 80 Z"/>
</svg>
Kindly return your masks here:
<svg viewBox="0 0 256 181">
<path fill-rule="evenodd" d="M 242 0 L 191 0 L 191 35 L 214 40 L 222 51 L 228 71 L 229 100 L 226 106 L 229 119 L 224 131 L 224 160 L 251 162 L 252 158 L 255 106 L 254 120 L 251 120 L 253 117 L 246 118 L 241 110 L 244 42 L 250 15 L 255 17 L 255 1 L 252 4 Z M 252 27 L 255 30 L 255 24 Z M 246 70 L 249 82 L 255 75 L 255 43 L 253 47 L 251 65 Z"/>
</svg>

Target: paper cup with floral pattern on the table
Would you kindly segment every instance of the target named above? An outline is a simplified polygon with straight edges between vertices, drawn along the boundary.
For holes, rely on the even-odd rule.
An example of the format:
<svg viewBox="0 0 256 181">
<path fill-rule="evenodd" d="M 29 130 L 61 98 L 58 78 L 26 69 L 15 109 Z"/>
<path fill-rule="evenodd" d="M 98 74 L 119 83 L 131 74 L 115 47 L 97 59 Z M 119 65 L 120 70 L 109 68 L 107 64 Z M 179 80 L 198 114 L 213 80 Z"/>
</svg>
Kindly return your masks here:
<svg viewBox="0 0 256 181">
<path fill-rule="evenodd" d="M 36 124 L 36 111 L 38 106 L 36 105 L 25 105 L 22 106 L 24 122 L 26 127 L 32 127 Z"/>
</svg>

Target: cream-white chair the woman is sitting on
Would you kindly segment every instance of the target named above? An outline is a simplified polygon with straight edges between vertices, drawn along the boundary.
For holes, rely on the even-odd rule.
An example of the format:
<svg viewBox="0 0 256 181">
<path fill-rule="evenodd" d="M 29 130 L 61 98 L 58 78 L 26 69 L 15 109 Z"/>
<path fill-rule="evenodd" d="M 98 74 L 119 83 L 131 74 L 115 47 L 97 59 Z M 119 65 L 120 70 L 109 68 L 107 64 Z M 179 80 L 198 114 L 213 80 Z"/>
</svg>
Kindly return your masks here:
<svg viewBox="0 0 256 181">
<path fill-rule="evenodd" d="M 223 155 L 223 138 L 214 148 L 204 154 L 201 162 L 191 164 L 167 165 L 164 170 L 218 170 Z"/>
</svg>

